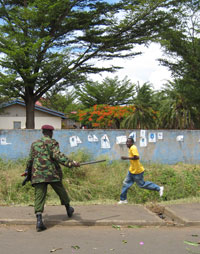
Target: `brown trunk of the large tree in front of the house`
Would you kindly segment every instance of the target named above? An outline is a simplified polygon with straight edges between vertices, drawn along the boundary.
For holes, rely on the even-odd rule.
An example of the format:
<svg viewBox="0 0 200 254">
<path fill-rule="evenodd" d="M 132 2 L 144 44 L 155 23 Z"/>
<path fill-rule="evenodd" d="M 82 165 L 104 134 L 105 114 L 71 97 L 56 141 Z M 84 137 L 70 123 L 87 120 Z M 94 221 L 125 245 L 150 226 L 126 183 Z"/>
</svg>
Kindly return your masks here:
<svg viewBox="0 0 200 254">
<path fill-rule="evenodd" d="M 29 97 L 25 100 L 26 105 L 26 129 L 35 129 L 35 101 Z"/>
</svg>

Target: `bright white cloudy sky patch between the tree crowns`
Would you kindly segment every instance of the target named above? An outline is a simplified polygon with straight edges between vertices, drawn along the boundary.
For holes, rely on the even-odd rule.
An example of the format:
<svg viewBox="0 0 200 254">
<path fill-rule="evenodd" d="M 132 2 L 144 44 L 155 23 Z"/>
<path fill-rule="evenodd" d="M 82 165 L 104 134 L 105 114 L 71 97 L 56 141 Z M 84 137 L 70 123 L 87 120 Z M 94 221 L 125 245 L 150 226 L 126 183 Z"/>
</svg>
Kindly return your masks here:
<svg viewBox="0 0 200 254">
<path fill-rule="evenodd" d="M 115 73 L 103 73 L 101 75 L 93 74 L 90 78 L 94 81 L 101 82 L 105 77 L 119 77 L 119 80 L 127 77 L 131 82 L 143 85 L 149 82 L 153 85 L 154 90 L 160 90 L 167 80 L 172 80 L 170 71 L 159 64 L 158 58 L 162 58 L 163 53 L 158 44 L 152 43 L 148 48 L 140 47 L 142 55 L 132 59 L 114 59 L 112 61 L 98 62 L 97 65 L 108 66 L 117 64 L 123 69 L 117 70 Z"/>
</svg>

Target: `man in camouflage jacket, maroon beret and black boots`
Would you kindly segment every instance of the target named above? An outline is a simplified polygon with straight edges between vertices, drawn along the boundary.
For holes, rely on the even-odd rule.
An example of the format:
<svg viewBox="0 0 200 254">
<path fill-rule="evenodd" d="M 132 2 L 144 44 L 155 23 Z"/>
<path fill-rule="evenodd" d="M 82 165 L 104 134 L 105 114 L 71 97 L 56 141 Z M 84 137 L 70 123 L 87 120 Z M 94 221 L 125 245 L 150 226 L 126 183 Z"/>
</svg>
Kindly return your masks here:
<svg viewBox="0 0 200 254">
<path fill-rule="evenodd" d="M 74 208 L 70 206 L 70 199 L 62 184 L 62 170 L 59 164 L 69 168 L 79 167 L 80 164 L 69 160 L 65 154 L 60 152 L 59 143 L 52 139 L 53 130 L 54 127 L 51 125 L 42 126 L 44 136 L 32 143 L 26 168 L 29 180 L 35 188 L 36 230 L 38 232 L 46 229 L 42 221 L 42 212 L 48 184 L 59 196 L 61 204 L 65 205 L 68 217 L 74 213 Z"/>
</svg>

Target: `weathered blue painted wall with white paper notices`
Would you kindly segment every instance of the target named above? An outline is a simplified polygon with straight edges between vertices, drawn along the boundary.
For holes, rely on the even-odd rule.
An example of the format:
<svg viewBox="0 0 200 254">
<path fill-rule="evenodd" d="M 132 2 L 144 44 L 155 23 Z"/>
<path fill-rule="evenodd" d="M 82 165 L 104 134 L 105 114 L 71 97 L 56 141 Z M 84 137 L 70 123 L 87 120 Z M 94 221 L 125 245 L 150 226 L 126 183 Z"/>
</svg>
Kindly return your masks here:
<svg viewBox="0 0 200 254">
<path fill-rule="evenodd" d="M 90 153 L 93 159 L 106 157 L 109 160 L 118 160 L 122 155 L 128 154 L 128 148 L 125 144 L 117 144 L 116 138 L 128 137 L 132 132 L 136 133 L 136 146 L 143 162 L 200 163 L 200 130 L 146 130 L 146 146 L 141 146 L 140 130 L 55 130 L 54 138 L 59 142 L 60 150 L 67 155 L 81 149 Z M 162 133 L 163 139 L 158 139 L 159 133 Z M 155 142 L 149 142 L 150 134 L 153 134 L 151 137 L 156 137 Z M 97 142 L 89 142 L 88 136 L 93 135 L 98 138 Z M 106 144 L 110 148 L 102 147 L 102 138 L 105 135 L 109 139 Z M 31 143 L 41 136 L 40 130 L 0 130 L 0 158 L 16 160 L 28 157 Z M 78 137 L 80 141 L 76 146 L 72 145 L 74 137 Z M 178 137 L 182 140 L 178 141 Z"/>
</svg>

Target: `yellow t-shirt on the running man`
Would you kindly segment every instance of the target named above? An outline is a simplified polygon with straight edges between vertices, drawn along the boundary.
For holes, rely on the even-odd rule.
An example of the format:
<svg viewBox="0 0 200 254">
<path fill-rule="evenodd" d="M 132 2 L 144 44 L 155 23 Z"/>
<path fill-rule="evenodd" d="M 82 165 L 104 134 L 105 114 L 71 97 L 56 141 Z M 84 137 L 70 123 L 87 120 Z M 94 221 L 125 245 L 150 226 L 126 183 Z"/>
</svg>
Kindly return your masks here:
<svg viewBox="0 0 200 254">
<path fill-rule="evenodd" d="M 135 145 L 132 145 L 129 148 L 129 157 L 133 157 L 134 155 L 139 156 L 137 147 Z M 130 167 L 129 171 L 131 174 L 140 174 L 144 171 L 144 168 L 142 164 L 140 163 L 140 160 L 130 160 Z"/>
</svg>

